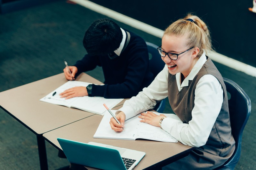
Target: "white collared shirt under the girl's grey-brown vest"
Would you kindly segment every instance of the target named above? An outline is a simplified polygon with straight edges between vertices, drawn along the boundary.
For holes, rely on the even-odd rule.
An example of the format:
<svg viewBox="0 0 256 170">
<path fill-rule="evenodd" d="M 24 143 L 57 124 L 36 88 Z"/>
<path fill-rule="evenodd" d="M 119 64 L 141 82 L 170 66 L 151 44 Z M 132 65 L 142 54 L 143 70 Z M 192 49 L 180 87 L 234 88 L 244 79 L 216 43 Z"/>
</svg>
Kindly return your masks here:
<svg viewBox="0 0 256 170">
<path fill-rule="evenodd" d="M 176 74 L 179 90 L 188 86 L 188 81 L 193 80 L 205 61 L 206 56 L 203 54 L 182 84 L 180 84 L 180 73 Z M 148 88 L 144 88 L 137 96 L 125 101 L 123 107 L 116 114 L 123 111 L 127 120 L 141 112 L 153 109 L 156 101 L 160 101 L 168 96 L 168 74 L 168 68 L 165 65 L 164 69 L 156 76 Z M 223 89 L 220 82 L 213 75 L 206 74 L 196 84 L 192 120 L 188 124 L 184 124 L 177 115 L 172 114 L 172 117 L 166 117 L 163 120 L 162 128 L 184 145 L 194 147 L 205 145 L 220 113 L 222 102 Z"/>
</svg>

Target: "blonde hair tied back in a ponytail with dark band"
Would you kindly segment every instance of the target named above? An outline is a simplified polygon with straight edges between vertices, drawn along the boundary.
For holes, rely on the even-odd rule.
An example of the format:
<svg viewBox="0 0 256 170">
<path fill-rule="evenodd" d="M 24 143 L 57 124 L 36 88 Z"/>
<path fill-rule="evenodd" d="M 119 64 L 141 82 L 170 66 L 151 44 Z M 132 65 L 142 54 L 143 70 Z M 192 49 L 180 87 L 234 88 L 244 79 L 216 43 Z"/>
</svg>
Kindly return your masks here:
<svg viewBox="0 0 256 170">
<path fill-rule="evenodd" d="M 198 58 L 207 51 L 213 50 L 210 31 L 207 25 L 197 16 L 188 14 L 185 18 L 179 19 L 169 25 L 164 35 L 186 35 L 188 46 L 198 47 Z"/>
</svg>

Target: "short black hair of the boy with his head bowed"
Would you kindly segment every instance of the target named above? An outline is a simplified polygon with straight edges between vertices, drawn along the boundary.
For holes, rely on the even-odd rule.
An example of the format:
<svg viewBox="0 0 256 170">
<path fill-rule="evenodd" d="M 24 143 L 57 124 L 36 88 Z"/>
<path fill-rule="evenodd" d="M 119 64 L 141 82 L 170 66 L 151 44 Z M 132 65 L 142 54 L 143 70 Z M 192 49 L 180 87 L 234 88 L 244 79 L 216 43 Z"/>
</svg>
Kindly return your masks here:
<svg viewBox="0 0 256 170">
<path fill-rule="evenodd" d="M 99 19 L 86 30 L 83 45 L 89 55 L 112 53 L 123 39 L 120 27 L 110 19 Z"/>
</svg>

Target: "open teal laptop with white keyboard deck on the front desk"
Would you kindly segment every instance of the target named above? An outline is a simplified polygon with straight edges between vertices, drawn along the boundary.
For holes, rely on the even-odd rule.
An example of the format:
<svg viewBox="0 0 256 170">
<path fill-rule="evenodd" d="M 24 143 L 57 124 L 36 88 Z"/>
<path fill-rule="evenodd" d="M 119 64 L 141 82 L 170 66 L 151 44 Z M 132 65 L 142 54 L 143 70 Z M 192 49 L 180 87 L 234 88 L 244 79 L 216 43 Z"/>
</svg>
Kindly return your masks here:
<svg viewBox="0 0 256 170">
<path fill-rule="evenodd" d="M 57 138 L 69 162 L 104 170 L 131 170 L 145 152 L 95 142 L 81 143 Z"/>
</svg>

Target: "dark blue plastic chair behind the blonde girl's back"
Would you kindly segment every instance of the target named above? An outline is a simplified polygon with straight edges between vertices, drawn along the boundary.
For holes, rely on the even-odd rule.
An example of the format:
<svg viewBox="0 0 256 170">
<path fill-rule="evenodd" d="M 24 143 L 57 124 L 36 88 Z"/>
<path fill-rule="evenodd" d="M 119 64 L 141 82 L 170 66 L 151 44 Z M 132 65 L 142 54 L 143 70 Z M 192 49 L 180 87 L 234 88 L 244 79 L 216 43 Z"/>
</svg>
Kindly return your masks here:
<svg viewBox="0 0 256 170">
<path fill-rule="evenodd" d="M 228 92 L 228 109 L 232 135 L 236 141 L 236 149 L 231 158 L 217 169 L 234 169 L 241 154 L 242 135 L 251 113 L 251 100 L 244 90 L 234 81 L 223 78 Z M 217 170 L 216 169 L 216 170 Z"/>
</svg>

